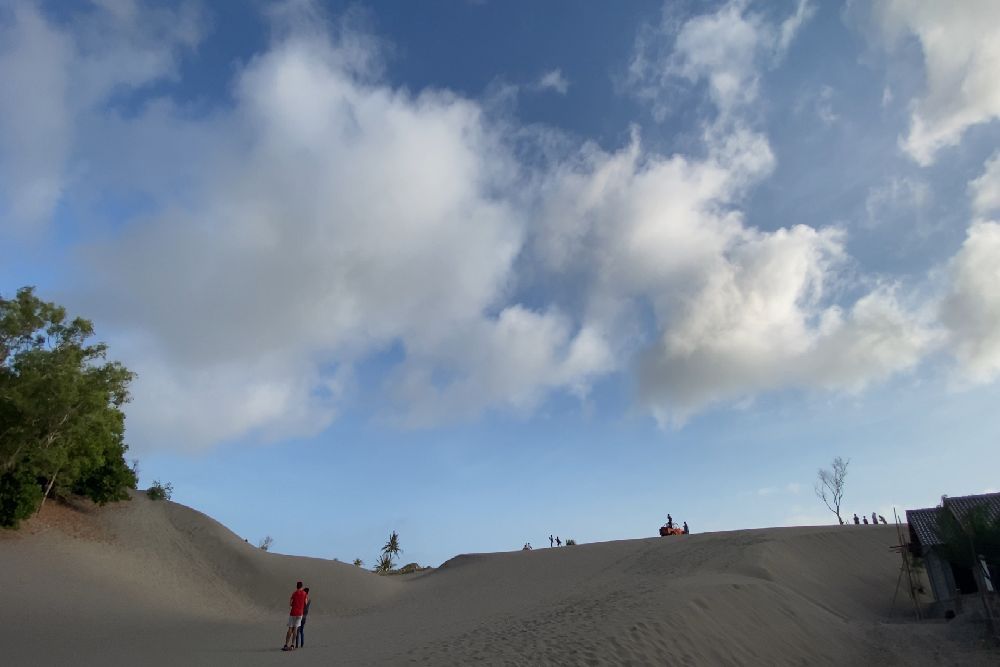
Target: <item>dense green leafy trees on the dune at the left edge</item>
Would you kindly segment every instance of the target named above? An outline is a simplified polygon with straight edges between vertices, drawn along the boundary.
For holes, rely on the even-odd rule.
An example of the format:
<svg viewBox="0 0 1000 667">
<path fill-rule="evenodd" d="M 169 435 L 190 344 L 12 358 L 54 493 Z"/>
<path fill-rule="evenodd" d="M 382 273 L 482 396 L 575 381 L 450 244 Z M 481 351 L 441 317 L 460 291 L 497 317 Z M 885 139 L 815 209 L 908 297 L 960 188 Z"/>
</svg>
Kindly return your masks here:
<svg viewBox="0 0 1000 667">
<path fill-rule="evenodd" d="M 25 287 L 0 297 L 0 525 L 16 526 L 49 496 L 106 503 L 136 478 L 125 462 L 133 375 L 89 344 L 90 321 Z"/>
</svg>

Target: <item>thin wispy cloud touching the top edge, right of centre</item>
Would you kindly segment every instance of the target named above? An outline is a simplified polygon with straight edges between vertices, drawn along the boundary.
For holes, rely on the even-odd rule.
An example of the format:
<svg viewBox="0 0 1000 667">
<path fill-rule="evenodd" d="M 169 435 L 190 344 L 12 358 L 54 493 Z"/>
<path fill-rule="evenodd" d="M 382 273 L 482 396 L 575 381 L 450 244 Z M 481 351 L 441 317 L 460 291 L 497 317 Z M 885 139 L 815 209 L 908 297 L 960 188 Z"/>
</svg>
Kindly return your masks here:
<svg viewBox="0 0 1000 667">
<path fill-rule="evenodd" d="M 756 100 L 761 70 L 781 60 L 813 9 L 799 0 L 795 12 L 775 24 L 748 6 L 746 0 L 731 0 L 679 28 L 668 6 L 660 25 L 639 35 L 628 83 L 657 118 L 669 112 L 671 91 L 682 80 L 705 82 L 723 116 Z"/>
</svg>

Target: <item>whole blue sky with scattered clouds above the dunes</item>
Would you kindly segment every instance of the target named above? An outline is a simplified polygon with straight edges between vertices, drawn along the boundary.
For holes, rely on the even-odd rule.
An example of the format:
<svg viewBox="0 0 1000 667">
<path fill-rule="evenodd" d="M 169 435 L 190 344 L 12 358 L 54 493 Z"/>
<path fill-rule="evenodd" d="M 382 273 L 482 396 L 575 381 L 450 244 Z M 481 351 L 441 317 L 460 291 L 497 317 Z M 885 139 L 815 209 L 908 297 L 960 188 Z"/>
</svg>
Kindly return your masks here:
<svg viewBox="0 0 1000 667">
<path fill-rule="evenodd" d="M 1000 487 L 1000 4 L 0 0 L 0 293 L 140 486 L 438 565 Z"/>
</svg>

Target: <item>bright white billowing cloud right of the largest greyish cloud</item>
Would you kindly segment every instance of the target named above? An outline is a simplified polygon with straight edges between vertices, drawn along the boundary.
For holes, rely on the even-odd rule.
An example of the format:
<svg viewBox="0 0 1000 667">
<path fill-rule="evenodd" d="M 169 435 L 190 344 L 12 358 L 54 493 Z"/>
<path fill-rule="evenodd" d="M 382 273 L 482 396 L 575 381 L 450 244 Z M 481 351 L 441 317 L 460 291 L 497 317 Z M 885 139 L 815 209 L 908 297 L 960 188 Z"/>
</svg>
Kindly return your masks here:
<svg viewBox="0 0 1000 667">
<path fill-rule="evenodd" d="M 714 141 L 714 139 L 713 139 Z M 588 316 L 639 348 L 641 398 L 663 423 L 788 386 L 856 392 L 913 368 L 933 342 L 891 287 L 848 308 L 831 300 L 843 235 L 797 225 L 763 232 L 734 207 L 773 157 L 753 134 L 710 142 L 708 159 L 596 149 L 546 186 L 534 248 L 588 285 Z M 648 305 L 652 341 L 636 337 Z"/>
</svg>

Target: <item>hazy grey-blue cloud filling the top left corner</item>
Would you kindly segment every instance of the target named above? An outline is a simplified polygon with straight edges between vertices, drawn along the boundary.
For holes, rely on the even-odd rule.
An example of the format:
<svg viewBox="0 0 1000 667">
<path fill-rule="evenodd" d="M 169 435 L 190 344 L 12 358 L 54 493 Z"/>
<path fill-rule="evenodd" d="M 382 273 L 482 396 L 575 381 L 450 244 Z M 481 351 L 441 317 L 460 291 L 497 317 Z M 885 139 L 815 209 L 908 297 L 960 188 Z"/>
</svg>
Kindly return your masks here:
<svg viewBox="0 0 1000 667">
<path fill-rule="evenodd" d="M 0 14 L 0 212 L 11 227 L 48 220 L 86 115 L 113 94 L 173 76 L 202 33 L 187 5 L 106 0 L 75 18 L 70 32 L 34 3 Z"/>
</svg>

